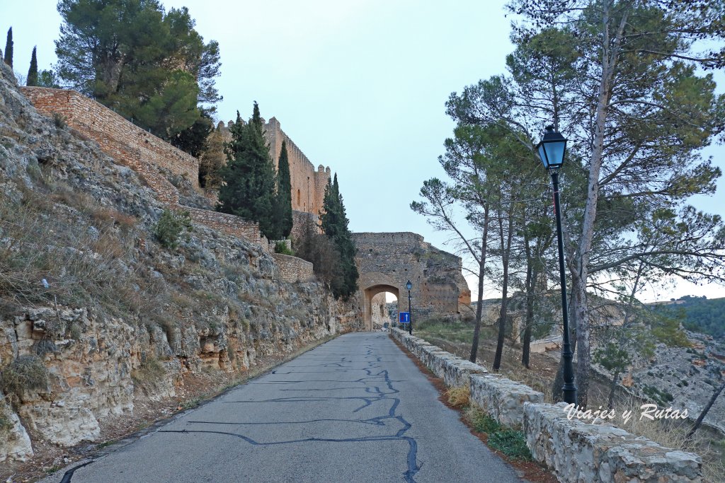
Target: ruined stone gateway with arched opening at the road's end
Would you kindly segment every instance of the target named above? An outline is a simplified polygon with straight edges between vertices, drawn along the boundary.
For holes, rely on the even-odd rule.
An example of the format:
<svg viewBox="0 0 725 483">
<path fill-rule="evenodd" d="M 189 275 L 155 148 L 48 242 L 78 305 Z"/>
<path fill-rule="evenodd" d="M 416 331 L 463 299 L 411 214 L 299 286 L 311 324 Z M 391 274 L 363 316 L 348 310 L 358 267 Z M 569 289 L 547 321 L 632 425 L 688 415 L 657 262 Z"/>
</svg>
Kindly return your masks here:
<svg viewBox="0 0 725 483">
<path fill-rule="evenodd" d="M 461 273 L 461 259 L 426 243 L 411 232 L 353 233 L 355 261 L 360 272 L 357 299 L 363 327 L 373 329 L 373 298 L 389 292 L 407 310 L 407 289 L 413 306 L 413 322 L 428 317 L 447 318 L 472 314 L 471 290 Z M 415 327 L 415 325 L 414 325 Z"/>
</svg>

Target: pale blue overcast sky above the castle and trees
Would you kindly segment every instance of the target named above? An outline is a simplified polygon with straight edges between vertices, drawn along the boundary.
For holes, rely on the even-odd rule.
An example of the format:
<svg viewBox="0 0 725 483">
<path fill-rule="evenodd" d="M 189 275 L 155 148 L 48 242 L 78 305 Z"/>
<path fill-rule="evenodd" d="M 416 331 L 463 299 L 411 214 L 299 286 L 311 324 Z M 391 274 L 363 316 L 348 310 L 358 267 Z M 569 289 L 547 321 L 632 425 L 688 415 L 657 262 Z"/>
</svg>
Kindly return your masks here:
<svg viewBox="0 0 725 483">
<path fill-rule="evenodd" d="M 504 72 L 509 19 L 503 0 L 162 0 L 188 7 L 196 30 L 220 43 L 220 120 L 249 117 L 252 102 L 315 166 L 339 177 L 355 232 L 411 231 L 439 248 L 444 235 L 410 211 L 423 180 L 442 176 L 437 157 L 453 122 L 450 93 Z M 14 68 L 27 74 L 38 46 L 41 69 L 56 62 L 61 19 L 55 0 L 0 0 L 0 47 L 12 26 Z M 725 75 L 716 75 L 725 91 Z M 725 148 L 708 149 L 725 169 Z M 566 189 L 566 187 L 563 187 Z M 695 206 L 725 215 L 725 180 Z M 719 202 L 718 202 L 719 201 Z M 475 283 L 471 280 L 471 286 Z M 494 296 L 497 289 L 486 289 Z M 647 298 L 725 296 L 725 288 L 679 283 Z M 474 295 L 475 296 L 475 295 Z"/>
</svg>

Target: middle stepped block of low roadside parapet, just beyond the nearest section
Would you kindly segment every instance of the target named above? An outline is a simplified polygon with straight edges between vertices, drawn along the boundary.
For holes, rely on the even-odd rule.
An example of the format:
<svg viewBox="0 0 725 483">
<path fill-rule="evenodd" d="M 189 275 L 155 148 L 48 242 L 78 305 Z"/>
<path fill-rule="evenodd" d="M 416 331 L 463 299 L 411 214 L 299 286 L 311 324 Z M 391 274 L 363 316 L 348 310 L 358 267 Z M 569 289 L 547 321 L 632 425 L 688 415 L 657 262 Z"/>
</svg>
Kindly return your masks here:
<svg viewBox="0 0 725 483">
<path fill-rule="evenodd" d="M 471 402 L 503 424 L 523 425 L 523 403 L 542 403 L 544 394 L 497 375 L 471 376 Z"/>
</svg>

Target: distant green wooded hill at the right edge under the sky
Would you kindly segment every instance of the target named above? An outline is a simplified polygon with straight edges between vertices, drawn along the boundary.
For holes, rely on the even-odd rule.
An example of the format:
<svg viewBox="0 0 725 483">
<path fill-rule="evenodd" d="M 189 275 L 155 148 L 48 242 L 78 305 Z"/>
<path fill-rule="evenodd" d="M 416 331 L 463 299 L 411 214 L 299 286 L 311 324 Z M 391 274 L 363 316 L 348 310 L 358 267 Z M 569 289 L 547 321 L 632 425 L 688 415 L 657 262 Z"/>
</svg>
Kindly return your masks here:
<svg viewBox="0 0 725 483">
<path fill-rule="evenodd" d="M 677 300 L 653 303 L 660 314 L 682 316 L 682 325 L 693 332 L 702 332 L 725 340 L 725 298 L 685 295 Z"/>
</svg>

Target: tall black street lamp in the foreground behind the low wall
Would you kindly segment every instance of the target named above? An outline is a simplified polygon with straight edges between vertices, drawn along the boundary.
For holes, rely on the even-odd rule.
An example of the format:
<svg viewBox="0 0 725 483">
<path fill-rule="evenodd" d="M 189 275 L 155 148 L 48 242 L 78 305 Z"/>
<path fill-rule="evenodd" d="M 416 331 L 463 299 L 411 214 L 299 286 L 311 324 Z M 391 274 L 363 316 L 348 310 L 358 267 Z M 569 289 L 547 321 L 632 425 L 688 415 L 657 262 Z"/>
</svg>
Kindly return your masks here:
<svg viewBox="0 0 725 483">
<path fill-rule="evenodd" d="M 561 348 L 561 362 L 563 365 L 564 385 L 561 388 L 564 393 L 564 401 L 568 404 L 576 404 L 576 386 L 574 385 L 573 352 L 571 351 L 571 340 L 569 339 L 569 314 L 566 308 L 566 275 L 564 274 L 564 243 L 561 235 L 561 206 L 559 203 L 559 168 L 564 162 L 566 153 L 566 138 L 554 130 L 554 126 L 547 126 L 544 138 L 537 145 L 539 158 L 544 167 L 551 175 L 551 182 L 554 187 L 554 211 L 556 212 L 556 235 L 559 245 L 559 277 L 561 281 L 561 311 L 564 318 L 564 335 Z"/>
</svg>

